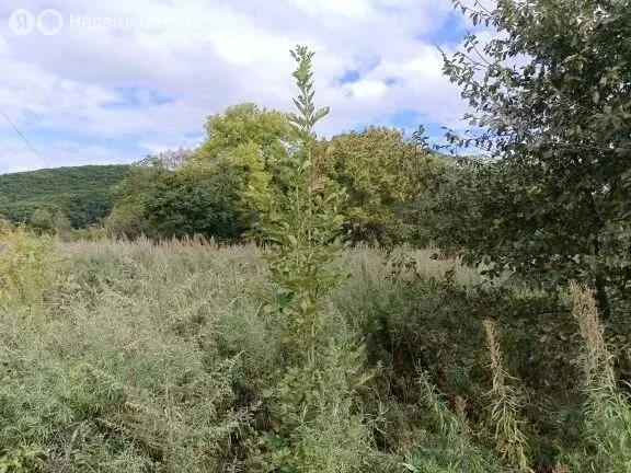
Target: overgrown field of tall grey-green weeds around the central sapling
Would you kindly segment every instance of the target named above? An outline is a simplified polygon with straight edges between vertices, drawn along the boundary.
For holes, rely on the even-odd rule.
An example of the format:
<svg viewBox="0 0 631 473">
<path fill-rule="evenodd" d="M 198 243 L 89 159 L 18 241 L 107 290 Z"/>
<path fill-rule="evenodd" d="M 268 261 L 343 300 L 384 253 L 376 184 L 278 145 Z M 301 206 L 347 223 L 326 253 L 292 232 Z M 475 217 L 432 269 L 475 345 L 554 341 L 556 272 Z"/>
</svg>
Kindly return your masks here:
<svg viewBox="0 0 631 473">
<path fill-rule="evenodd" d="M 295 413 L 267 392 L 290 341 L 255 246 L 5 232 L 0 471 L 631 471 L 589 299 L 492 287 L 432 253 L 344 254 L 291 464 L 274 419 Z M 629 330 L 606 334 L 629 379 Z"/>
</svg>

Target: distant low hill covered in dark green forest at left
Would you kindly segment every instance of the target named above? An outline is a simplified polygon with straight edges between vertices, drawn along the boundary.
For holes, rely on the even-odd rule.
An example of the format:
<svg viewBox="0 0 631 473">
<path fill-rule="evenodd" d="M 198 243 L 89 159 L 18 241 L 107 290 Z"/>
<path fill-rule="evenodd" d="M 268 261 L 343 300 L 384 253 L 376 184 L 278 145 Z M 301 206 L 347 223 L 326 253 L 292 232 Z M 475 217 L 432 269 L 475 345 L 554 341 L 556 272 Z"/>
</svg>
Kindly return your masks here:
<svg viewBox="0 0 631 473">
<path fill-rule="evenodd" d="M 72 227 L 105 218 L 114 205 L 112 187 L 128 165 L 85 165 L 0 175 L 0 218 L 27 221 L 36 209 L 61 210 Z"/>
</svg>

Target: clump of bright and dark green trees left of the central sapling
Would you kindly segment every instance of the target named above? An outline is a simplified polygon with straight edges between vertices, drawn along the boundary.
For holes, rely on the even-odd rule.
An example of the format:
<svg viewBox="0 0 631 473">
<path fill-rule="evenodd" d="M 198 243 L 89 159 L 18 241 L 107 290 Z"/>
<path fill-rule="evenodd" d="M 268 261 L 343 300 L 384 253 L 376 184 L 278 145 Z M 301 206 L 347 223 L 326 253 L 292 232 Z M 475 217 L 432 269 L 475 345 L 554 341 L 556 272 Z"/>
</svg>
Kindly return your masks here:
<svg viewBox="0 0 631 473">
<path fill-rule="evenodd" d="M 117 186 L 111 233 L 236 240 L 252 227 L 272 192 L 269 166 L 288 155 L 289 122 L 241 104 L 209 116 L 206 130 L 198 149 L 148 157 L 130 169 Z"/>
</svg>

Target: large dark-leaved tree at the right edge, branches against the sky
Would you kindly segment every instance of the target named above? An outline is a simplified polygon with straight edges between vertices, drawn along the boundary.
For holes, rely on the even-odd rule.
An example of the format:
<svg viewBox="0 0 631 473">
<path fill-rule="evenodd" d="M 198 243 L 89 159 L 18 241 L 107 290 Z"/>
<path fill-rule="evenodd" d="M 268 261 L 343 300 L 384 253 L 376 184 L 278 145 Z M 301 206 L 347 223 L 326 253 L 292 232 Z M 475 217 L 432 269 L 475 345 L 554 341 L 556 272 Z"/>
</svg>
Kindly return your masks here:
<svg viewBox="0 0 631 473">
<path fill-rule="evenodd" d="M 451 141 L 495 160 L 469 180 L 461 217 L 470 262 L 553 284 L 589 280 L 603 315 L 628 289 L 631 5 L 623 0 L 501 0 L 468 12 L 496 31 L 445 58 L 475 135 Z M 546 276 L 546 278 L 543 278 Z"/>
</svg>

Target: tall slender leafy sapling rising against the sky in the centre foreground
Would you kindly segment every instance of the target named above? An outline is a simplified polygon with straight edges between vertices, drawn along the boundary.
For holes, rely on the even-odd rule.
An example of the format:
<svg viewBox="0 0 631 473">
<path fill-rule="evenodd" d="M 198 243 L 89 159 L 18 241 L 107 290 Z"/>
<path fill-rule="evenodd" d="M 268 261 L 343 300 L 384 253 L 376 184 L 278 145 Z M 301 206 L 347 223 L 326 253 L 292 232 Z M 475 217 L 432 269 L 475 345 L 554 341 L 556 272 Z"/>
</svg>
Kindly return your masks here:
<svg viewBox="0 0 631 473">
<path fill-rule="evenodd" d="M 329 113 L 313 104 L 313 53 L 299 46 L 291 56 L 300 93 L 294 99 L 299 114 L 288 118 L 301 146 L 279 165 L 280 192 L 272 195 L 272 210 L 262 217 L 260 230 L 273 243 L 266 257 L 277 287 L 276 303 L 266 310 L 283 314 L 288 342 L 305 354 L 321 333 L 319 302 L 340 280 L 329 265 L 344 247 L 339 212 L 344 193 L 318 174 L 312 159 L 313 126 Z"/>
</svg>

